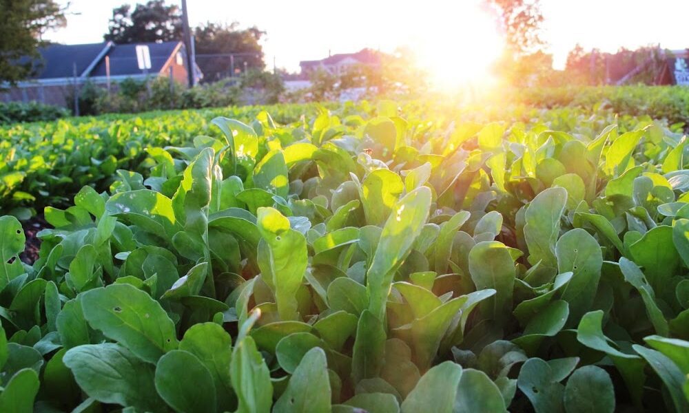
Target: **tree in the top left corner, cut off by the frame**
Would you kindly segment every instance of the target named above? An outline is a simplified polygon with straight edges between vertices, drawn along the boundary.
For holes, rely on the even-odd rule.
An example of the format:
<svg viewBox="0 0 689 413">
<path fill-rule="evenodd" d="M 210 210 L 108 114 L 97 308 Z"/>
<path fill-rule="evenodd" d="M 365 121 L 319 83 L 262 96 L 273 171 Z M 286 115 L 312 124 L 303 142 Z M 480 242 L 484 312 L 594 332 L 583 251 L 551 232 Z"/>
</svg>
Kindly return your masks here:
<svg viewBox="0 0 689 413">
<path fill-rule="evenodd" d="M 66 24 L 64 12 L 54 0 L 0 0 L 0 89 L 33 74 L 41 36 Z"/>
</svg>

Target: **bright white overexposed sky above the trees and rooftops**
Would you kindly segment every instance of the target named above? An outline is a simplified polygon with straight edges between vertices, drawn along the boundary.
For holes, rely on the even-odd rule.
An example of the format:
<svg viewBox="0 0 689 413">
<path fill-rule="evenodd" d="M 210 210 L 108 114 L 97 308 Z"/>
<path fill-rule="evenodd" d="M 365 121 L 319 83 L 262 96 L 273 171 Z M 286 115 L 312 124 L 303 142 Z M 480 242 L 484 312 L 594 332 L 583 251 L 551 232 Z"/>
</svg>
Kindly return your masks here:
<svg viewBox="0 0 689 413">
<path fill-rule="evenodd" d="M 68 44 L 103 41 L 112 9 L 127 3 L 58 1 L 70 3 L 68 25 L 45 39 Z M 564 67 L 567 52 L 577 43 L 605 52 L 649 44 L 689 47 L 689 0 L 541 0 L 541 5 L 542 37 L 556 68 Z M 467 65 L 467 59 L 490 61 L 502 42 L 480 0 L 187 0 L 187 6 L 191 25 L 238 21 L 241 27 L 265 30 L 267 65 L 275 62 L 290 71 L 298 70 L 299 61 L 322 59 L 329 52 L 363 47 L 393 52 L 400 46 L 415 50 L 426 66 L 482 70 L 484 65 Z"/>
</svg>

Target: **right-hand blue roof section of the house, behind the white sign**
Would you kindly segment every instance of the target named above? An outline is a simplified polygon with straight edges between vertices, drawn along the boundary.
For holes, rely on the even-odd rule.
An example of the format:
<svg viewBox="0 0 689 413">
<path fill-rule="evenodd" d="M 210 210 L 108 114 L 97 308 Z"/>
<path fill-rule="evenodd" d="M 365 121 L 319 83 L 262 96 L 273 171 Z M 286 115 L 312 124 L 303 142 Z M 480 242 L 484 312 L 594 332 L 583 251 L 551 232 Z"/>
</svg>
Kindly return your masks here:
<svg viewBox="0 0 689 413">
<path fill-rule="evenodd" d="M 181 46 L 180 41 L 165 41 L 163 43 L 131 43 L 127 45 L 113 45 L 107 56 L 110 57 L 110 76 L 127 76 L 141 74 L 136 61 L 136 46 L 145 44 L 151 54 L 150 73 L 163 70 L 163 66 Z M 105 59 L 102 59 L 90 76 L 105 76 Z"/>
</svg>

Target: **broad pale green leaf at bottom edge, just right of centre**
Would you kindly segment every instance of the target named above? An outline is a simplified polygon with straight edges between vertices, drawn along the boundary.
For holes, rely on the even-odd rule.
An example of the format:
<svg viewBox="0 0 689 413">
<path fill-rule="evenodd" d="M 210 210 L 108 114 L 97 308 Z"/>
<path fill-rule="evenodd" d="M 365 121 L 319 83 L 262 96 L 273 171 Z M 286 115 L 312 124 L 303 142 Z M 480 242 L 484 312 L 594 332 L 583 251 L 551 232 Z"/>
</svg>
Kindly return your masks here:
<svg viewBox="0 0 689 413">
<path fill-rule="evenodd" d="M 402 403 L 402 413 L 453 413 L 462 366 L 444 361 L 427 371 Z"/>
</svg>

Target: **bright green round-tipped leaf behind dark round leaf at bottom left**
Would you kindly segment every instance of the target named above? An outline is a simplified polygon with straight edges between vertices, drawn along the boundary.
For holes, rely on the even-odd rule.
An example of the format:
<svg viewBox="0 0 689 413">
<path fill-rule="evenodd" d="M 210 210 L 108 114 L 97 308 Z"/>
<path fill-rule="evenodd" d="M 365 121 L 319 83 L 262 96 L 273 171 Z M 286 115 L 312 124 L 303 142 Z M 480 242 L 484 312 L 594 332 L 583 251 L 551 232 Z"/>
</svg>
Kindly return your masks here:
<svg viewBox="0 0 689 413">
<path fill-rule="evenodd" d="M 194 324 L 184 333 L 179 349 L 194 354 L 210 372 L 215 384 L 218 409 L 232 410 L 236 403 L 229 372 L 232 337 L 218 324 Z"/>
</svg>

